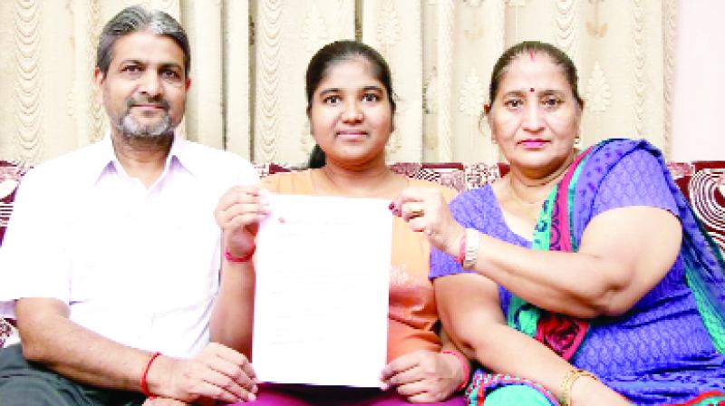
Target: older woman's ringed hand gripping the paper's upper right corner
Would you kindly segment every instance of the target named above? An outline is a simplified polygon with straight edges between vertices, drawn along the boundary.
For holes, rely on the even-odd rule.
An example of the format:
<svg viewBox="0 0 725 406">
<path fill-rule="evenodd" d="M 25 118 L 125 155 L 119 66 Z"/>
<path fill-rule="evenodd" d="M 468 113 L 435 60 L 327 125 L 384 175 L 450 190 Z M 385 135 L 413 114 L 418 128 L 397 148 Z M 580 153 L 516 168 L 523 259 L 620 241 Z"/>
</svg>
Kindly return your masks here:
<svg viewBox="0 0 725 406">
<path fill-rule="evenodd" d="M 408 222 L 411 230 L 423 232 L 430 245 L 457 256 L 464 228 L 450 214 L 438 189 L 407 188 L 391 204 L 394 215 Z"/>
</svg>

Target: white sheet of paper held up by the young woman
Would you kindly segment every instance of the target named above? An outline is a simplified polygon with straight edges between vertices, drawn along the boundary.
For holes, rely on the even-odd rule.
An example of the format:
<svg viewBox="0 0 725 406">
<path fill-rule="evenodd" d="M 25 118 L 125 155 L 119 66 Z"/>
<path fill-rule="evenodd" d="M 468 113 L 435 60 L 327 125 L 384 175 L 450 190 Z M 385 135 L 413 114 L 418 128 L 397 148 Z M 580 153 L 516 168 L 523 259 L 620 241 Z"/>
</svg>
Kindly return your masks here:
<svg viewBox="0 0 725 406">
<path fill-rule="evenodd" d="M 256 237 L 261 382 L 380 386 L 388 329 L 387 200 L 270 195 Z"/>
</svg>

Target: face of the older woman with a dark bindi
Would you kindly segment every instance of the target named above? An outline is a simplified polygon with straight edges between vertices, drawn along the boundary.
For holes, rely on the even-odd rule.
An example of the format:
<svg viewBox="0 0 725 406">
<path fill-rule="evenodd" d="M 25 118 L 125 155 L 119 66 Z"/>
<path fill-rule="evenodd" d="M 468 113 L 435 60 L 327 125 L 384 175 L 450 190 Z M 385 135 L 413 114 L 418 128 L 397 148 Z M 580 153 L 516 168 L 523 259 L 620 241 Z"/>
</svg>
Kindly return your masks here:
<svg viewBox="0 0 725 406">
<path fill-rule="evenodd" d="M 512 166 L 546 175 L 568 164 L 579 117 L 562 68 L 544 53 L 525 53 L 501 78 L 488 124 Z"/>
</svg>

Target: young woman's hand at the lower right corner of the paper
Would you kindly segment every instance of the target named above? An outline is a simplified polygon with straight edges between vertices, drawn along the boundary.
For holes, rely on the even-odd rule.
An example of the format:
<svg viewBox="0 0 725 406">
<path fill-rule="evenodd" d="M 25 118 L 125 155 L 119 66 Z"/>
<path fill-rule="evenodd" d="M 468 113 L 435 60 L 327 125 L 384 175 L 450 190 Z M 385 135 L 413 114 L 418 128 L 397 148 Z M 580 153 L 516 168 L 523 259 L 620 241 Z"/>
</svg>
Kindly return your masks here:
<svg viewBox="0 0 725 406">
<path fill-rule="evenodd" d="M 396 387 L 408 401 L 445 401 L 466 377 L 459 360 L 446 353 L 417 351 L 391 361 L 382 370 L 382 390 Z"/>
</svg>

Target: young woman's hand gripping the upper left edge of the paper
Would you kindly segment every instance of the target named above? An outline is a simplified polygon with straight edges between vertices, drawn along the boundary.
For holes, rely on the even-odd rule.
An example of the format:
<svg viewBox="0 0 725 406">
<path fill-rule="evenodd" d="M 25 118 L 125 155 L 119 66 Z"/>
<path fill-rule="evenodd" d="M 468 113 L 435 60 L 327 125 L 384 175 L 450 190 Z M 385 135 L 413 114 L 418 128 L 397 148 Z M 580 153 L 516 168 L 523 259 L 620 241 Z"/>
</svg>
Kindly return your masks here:
<svg viewBox="0 0 725 406">
<path fill-rule="evenodd" d="M 254 186 L 235 186 L 219 199 L 214 217 L 224 232 L 229 254 L 245 257 L 255 249 L 259 221 L 269 214 L 263 191 Z"/>
</svg>

